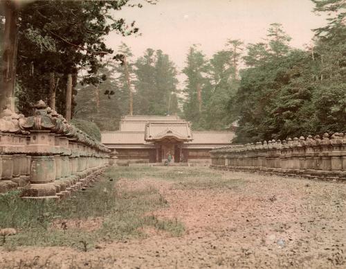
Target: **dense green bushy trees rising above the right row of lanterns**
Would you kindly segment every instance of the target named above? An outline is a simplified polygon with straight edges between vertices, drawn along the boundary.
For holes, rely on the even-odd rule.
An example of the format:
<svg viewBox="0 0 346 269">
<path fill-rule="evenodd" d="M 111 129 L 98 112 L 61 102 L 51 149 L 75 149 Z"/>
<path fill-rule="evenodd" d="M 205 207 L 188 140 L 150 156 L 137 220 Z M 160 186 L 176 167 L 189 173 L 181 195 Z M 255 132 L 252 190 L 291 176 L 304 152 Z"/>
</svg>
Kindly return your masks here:
<svg viewBox="0 0 346 269">
<path fill-rule="evenodd" d="M 338 1 L 316 2 L 323 10 L 325 3 Z M 249 68 L 242 71 L 230 104 L 239 119 L 237 142 L 345 132 L 346 27 L 339 19 L 316 29 L 308 51 L 290 49 L 289 37 L 277 24 L 278 39 L 269 29 L 268 43 L 248 46 Z"/>
</svg>

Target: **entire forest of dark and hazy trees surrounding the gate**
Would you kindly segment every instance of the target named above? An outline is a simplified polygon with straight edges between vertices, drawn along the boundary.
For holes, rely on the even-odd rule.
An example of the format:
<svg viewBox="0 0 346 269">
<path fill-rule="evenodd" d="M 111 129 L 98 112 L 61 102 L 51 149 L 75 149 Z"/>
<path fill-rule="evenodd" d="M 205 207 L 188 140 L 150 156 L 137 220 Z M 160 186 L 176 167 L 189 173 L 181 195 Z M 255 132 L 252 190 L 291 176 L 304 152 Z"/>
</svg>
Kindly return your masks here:
<svg viewBox="0 0 346 269">
<path fill-rule="evenodd" d="M 30 3 L 19 15 L 17 108 L 29 114 L 42 98 L 66 114 L 70 90 L 71 117 L 101 130 L 116 130 L 125 114 L 178 114 L 194 130 L 237 125 L 237 143 L 346 132 L 346 4 L 313 2 L 327 25 L 305 49 L 273 23 L 262 42 L 230 37 L 210 58 L 191 46 L 181 70 L 161 50 L 134 58 L 126 44 L 107 48 L 110 31 L 138 32 L 110 15 L 127 1 Z"/>
</svg>

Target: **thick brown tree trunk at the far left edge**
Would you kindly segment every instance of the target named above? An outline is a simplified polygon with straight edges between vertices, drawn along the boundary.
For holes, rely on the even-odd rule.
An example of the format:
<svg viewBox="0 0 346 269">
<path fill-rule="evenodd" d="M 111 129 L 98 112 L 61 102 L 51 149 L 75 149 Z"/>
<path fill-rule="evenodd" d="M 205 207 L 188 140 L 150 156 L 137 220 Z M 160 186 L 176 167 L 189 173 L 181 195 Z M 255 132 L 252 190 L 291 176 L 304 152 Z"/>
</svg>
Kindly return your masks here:
<svg viewBox="0 0 346 269">
<path fill-rule="evenodd" d="M 18 10 L 15 3 L 6 0 L 3 3 L 5 12 L 5 30 L 3 33 L 3 67 L 0 85 L 0 110 L 8 107 L 15 110 L 15 78 L 18 47 Z"/>
</svg>

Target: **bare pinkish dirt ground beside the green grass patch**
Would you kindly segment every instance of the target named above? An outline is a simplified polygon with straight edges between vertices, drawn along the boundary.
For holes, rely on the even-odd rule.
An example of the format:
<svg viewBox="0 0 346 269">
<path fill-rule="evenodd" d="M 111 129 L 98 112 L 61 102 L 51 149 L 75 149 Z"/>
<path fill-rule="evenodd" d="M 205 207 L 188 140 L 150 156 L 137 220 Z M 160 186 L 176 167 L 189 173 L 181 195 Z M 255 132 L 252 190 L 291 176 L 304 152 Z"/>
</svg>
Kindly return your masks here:
<svg viewBox="0 0 346 269">
<path fill-rule="evenodd" d="M 189 177 L 117 183 L 124 192 L 158 189 L 169 207 L 150 214 L 182 222 L 181 237 L 148 227 L 146 238 L 100 243 L 89 252 L 0 248 L 0 268 L 346 268 L 345 183 L 215 175 L 219 185 Z"/>
</svg>

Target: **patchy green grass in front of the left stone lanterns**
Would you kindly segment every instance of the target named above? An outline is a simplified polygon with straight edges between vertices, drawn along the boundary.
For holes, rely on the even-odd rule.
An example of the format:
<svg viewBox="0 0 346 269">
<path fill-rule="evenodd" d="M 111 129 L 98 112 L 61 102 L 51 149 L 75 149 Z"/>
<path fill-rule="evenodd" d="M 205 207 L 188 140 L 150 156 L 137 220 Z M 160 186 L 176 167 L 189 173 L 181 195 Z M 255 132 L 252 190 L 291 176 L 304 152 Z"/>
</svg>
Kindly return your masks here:
<svg viewBox="0 0 346 269">
<path fill-rule="evenodd" d="M 142 171 L 143 170 L 143 171 Z M 162 220 L 147 216 L 150 211 L 167 207 L 167 201 L 156 189 L 118 193 L 114 184 L 120 177 L 131 179 L 143 177 L 143 168 L 110 168 L 102 180 L 85 192 L 75 193 L 71 198 L 54 200 L 21 200 L 17 191 L 0 196 L 0 228 L 12 227 L 18 233 L 6 236 L 1 243 L 5 250 L 21 245 L 72 246 L 89 250 L 99 242 L 122 240 L 145 236 L 140 228 L 152 226 L 180 236 L 184 227 L 177 220 Z M 109 180 L 109 178 L 113 180 Z M 86 231 L 71 227 L 75 220 L 87 221 L 97 218 L 98 229 Z M 52 227 L 52 223 L 59 223 Z"/>
</svg>

